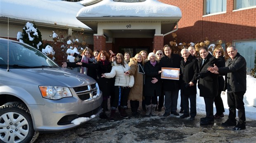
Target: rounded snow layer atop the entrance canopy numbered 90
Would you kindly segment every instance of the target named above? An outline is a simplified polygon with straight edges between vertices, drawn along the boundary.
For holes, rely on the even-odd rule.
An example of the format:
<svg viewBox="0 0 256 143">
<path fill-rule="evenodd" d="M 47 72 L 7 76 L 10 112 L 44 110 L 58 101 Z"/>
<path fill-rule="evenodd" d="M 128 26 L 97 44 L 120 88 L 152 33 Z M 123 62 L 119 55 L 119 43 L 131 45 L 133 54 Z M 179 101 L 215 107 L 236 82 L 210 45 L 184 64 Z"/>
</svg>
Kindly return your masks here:
<svg viewBox="0 0 256 143">
<path fill-rule="evenodd" d="M 144 2 L 101 2 L 83 7 L 76 17 L 103 17 L 103 16 L 141 16 L 141 17 L 181 17 L 180 8 L 167 5 L 157 0 Z"/>
</svg>

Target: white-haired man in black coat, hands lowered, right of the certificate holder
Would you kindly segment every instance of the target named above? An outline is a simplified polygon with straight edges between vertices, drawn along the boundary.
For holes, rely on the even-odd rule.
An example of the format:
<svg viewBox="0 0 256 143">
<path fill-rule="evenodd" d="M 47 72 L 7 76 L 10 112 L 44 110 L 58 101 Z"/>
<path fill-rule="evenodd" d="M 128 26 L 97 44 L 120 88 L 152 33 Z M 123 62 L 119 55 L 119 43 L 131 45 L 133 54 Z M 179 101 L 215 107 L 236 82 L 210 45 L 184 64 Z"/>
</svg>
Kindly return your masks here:
<svg viewBox="0 0 256 143">
<path fill-rule="evenodd" d="M 191 116 L 190 120 L 193 121 L 194 117 L 197 115 L 197 80 L 195 80 L 195 78 L 199 70 L 198 60 L 190 55 L 187 48 L 183 48 L 180 53 L 183 57 L 180 61 L 180 73 L 182 77 L 180 97 L 182 97 L 182 105 L 184 108 L 184 114 L 181 115 L 180 118 L 183 119 Z"/>
</svg>

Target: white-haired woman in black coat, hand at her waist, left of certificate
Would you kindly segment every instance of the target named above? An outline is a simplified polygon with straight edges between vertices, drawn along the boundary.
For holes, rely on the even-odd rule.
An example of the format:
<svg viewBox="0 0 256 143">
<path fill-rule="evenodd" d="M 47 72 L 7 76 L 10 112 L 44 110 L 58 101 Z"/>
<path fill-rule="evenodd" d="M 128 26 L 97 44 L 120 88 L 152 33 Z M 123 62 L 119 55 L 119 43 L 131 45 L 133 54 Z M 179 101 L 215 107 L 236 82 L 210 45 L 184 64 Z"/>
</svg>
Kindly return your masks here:
<svg viewBox="0 0 256 143">
<path fill-rule="evenodd" d="M 146 115 L 155 115 L 154 111 L 157 104 L 157 95 L 161 93 L 161 67 L 156 60 L 156 55 L 152 52 L 148 55 L 148 61 L 145 63 L 145 85 L 144 96 L 146 104 Z"/>
</svg>

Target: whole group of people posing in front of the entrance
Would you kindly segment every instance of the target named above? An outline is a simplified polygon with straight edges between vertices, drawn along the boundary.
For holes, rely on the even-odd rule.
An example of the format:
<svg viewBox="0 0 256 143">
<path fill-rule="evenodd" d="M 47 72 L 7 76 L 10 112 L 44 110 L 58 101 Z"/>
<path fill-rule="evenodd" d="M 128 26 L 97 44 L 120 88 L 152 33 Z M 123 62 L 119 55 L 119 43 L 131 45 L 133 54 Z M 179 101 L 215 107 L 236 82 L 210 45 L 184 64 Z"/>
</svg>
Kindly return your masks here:
<svg viewBox="0 0 256 143">
<path fill-rule="evenodd" d="M 164 51 L 164 52 L 163 52 Z M 206 117 L 200 124 L 213 124 L 214 119 L 224 117 L 224 106 L 221 92 L 228 90 L 228 120 L 223 126 L 235 126 L 235 130 L 245 129 L 245 111 L 243 95 L 246 91 L 246 61 L 237 53 L 235 46 L 228 46 L 230 58 L 225 62 L 223 48 L 215 48 L 213 55 L 207 47 L 199 49 L 200 59 L 195 48 L 190 46 L 181 50 L 181 56 L 174 54 L 169 45 L 163 51 L 140 51 L 133 58 L 130 53 L 113 53 L 94 51 L 85 48 L 81 60 L 63 62 L 62 67 L 81 67 L 81 72 L 94 78 L 102 91 L 102 113 L 100 118 L 115 120 L 116 110 L 122 118 L 128 118 L 126 109 L 130 100 L 133 116 L 139 116 L 138 107 L 142 101 L 145 115 L 155 115 L 165 107 L 165 117 L 170 114 L 179 116 L 177 112 L 178 94 L 180 90 L 181 119 L 190 117 L 195 120 L 196 94 L 198 85 L 200 96 L 204 97 Z M 161 68 L 180 69 L 179 80 L 161 78 Z M 225 80 L 223 78 L 225 76 Z M 198 84 L 197 84 L 198 83 Z M 159 97 L 159 98 L 158 98 Z M 110 117 L 106 111 L 110 98 Z M 213 102 L 216 114 L 213 115 Z M 189 106 L 190 103 L 190 106 Z M 158 106 L 157 106 L 158 105 Z M 158 108 L 158 109 L 157 109 Z M 236 108 L 239 121 L 236 123 Z"/>
</svg>

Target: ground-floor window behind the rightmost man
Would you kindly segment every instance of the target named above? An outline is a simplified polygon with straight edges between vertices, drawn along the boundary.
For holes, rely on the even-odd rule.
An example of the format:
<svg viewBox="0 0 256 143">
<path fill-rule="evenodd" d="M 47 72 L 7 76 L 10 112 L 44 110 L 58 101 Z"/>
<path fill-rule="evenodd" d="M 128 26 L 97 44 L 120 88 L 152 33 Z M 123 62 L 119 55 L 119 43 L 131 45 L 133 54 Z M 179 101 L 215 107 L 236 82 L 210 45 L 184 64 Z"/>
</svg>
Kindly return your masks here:
<svg viewBox="0 0 256 143">
<path fill-rule="evenodd" d="M 237 52 L 245 58 L 247 63 L 247 72 L 250 72 L 254 68 L 256 39 L 248 41 L 235 41 L 233 44 L 237 48 Z"/>
</svg>

